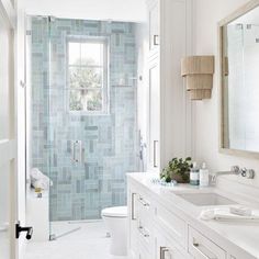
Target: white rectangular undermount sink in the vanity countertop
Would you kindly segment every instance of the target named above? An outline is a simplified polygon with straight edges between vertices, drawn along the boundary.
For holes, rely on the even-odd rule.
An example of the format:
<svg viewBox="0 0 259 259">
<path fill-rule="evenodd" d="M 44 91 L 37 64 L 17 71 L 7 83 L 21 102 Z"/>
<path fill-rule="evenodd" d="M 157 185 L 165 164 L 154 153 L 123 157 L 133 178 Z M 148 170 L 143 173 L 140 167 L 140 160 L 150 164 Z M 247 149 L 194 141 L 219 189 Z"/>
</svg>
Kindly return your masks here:
<svg viewBox="0 0 259 259">
<path fill-rule="evenodd" d="M 196 206 L 219 206 L 236 204 L 236 202 L 217 193 L 174 193 Z"/>
</svg>

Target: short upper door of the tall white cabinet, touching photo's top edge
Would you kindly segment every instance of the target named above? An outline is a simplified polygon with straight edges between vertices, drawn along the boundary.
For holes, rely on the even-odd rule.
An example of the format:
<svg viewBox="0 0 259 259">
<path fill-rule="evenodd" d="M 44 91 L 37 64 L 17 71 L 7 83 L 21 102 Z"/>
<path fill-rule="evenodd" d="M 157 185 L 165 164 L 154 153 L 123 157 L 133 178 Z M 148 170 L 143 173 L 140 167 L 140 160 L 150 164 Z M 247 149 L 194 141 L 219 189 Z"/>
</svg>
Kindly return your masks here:
<svg viewBox="0 0 259 259">
<path fill-rule="evenodd" d="M 149 52 L 154 53 L 159 46 L 159 1 L 150 1 L 148 4 L 149 19 Z"/>
</svg>

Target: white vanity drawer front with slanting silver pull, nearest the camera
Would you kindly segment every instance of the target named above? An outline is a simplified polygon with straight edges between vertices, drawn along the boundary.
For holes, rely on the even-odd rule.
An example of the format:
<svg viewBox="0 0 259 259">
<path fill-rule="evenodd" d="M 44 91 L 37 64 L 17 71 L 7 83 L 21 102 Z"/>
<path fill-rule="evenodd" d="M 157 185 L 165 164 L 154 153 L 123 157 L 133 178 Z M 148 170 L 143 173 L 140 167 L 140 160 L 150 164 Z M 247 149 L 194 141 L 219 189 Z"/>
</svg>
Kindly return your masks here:
<svg viewBox="0 0 259 259">
<path fill-rule="evenodd" d="M 195 259 L 226 259 L 226 251 L 189 226 L 189 252 Z"/>
</svg>

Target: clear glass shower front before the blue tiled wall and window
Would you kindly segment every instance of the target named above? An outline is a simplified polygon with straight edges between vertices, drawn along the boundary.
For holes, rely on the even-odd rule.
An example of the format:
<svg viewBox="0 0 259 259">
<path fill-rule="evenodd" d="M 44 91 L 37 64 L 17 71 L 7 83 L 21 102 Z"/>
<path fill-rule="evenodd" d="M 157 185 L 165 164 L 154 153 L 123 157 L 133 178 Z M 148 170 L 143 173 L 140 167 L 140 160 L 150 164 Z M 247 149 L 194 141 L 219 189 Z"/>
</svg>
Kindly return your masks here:
<svg viewBox="0 0 259 259">
<path fill-rule="evenodd" d="M 132 23 L 53 18 L 48 29 L 49 216 L 60 236 L 126 204 L 126 172 L 137 170 L 135 34 Z"/>
</svg>

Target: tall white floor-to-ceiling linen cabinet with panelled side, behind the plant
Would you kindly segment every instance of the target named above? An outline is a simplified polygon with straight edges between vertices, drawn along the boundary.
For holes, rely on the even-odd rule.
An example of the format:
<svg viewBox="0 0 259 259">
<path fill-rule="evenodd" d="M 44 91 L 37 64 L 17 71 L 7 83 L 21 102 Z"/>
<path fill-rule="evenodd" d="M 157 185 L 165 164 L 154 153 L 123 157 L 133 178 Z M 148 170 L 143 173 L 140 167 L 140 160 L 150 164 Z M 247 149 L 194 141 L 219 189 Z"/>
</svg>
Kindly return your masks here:
<svg viewBox="0 0 259 259">
<path fill-rule="evenodd" d="M 172 157 L 189 148 L 184 144 L 189 133 L 183 125 L 191 112 L 180 64 L 182 57 L 191 54 L 193 0 L 147 0 L 146 3 L 147 170 L 159 172 Z M 173 117 L 182 120 L 177 127 Z"/>
</svg>

